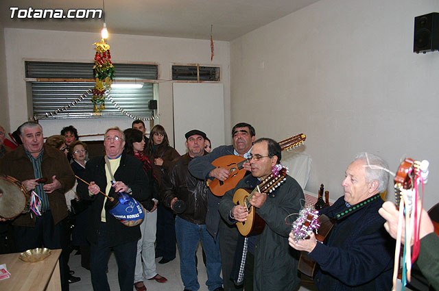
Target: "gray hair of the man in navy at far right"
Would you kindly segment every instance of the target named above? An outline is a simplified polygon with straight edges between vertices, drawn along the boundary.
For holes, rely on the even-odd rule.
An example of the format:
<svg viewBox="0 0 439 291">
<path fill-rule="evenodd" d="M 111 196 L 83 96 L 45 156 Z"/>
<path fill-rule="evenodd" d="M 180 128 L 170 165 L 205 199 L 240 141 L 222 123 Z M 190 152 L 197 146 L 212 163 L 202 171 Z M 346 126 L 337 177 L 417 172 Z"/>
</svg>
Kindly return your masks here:
<svg viewBox="0 0 439 291">
<path fill-rule="evenodd" d="M 377 180 L 379 184 L 377 191 L 382 193 L 387 190 L 389 183 L 389 165 L 387 162 L 385 162 L 385 160 L 378 155 L 366 152 L 357 153 L 355 160 L 362 160 L 366 163 L 364 175 L 367 183 Z"/>
</svg>

